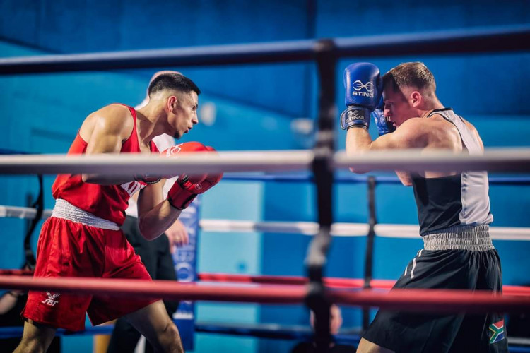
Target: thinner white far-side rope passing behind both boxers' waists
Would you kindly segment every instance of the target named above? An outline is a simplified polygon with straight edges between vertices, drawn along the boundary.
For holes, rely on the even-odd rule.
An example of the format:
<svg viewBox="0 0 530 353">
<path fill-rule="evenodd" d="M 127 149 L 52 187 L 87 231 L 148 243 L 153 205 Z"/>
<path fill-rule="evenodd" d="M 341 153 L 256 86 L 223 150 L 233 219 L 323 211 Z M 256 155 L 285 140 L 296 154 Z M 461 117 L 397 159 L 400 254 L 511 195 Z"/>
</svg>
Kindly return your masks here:
<svg viewBox="0 0 530 353">
<path fill-rule="evenodd" d="M 35 208 L 0 205 L 0 217 L 35 218 Z M 42 219 L 52 215 L 52 210 L 44 210 Z M 205 232 L 260 232 L 260 233 L 292 233 L 317 234 L 317 222 L 254 222 L 249 220 L 199 220 L 199 227 Z M 368 225 L 365 223 L 334 223 L 331 235 L 334 237 L 365 237 Z M 415 238 L 420 239 L 418 225 L 375 225 L 377 237 Z M 530 240 L 530 228 L 525 227 L 491 227 L 491 239 L 496 240 Z"/>
</svg>

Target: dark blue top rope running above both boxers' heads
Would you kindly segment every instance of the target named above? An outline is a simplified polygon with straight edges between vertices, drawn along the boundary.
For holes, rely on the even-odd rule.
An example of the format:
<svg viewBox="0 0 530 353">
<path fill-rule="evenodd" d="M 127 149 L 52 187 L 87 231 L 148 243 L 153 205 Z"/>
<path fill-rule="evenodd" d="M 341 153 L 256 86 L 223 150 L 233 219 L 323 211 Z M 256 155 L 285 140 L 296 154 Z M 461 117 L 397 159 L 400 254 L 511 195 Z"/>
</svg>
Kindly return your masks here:
<svg viewBox="0 0 530 353">
<path fill-rule="evenodd" d="M 336 59 L 413 54 L 526 51 L 530 26 L 525 24 L 399 33 L 325 40 L 228 44 L 180 49 L 150 49 L 88 54 L 56 54 L 0 59 L 0 75 L 64 71 L 101 71 L 163 66 L 205 66 L 318 59 L 326 44 Z M 495 48 L 492 48 L 495 43 Z"/>
</svg>

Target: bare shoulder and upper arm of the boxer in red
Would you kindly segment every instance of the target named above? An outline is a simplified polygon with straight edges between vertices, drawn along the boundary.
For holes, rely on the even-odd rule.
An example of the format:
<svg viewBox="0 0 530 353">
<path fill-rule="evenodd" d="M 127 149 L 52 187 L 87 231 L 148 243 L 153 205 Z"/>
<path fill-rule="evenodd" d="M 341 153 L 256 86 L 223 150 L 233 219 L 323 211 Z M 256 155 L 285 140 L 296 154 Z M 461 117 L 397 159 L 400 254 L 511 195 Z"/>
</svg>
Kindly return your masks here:
<svg viewBox="0 0 530 353">
<path fill-rule="evenodd" d="M 79 130 L 81 138 L 88 143 L 85 154 L 119 153 L 122 142 L 131 136 L 133 124 L 129 109 L 118 105 L 110 105 L 90 114 Z M 100 185 L 124 184 L 134 179 L 133 176 L 110 177 L 101 174 L 83 174 L 82 178 L 86 183 Z"/>
</svg>

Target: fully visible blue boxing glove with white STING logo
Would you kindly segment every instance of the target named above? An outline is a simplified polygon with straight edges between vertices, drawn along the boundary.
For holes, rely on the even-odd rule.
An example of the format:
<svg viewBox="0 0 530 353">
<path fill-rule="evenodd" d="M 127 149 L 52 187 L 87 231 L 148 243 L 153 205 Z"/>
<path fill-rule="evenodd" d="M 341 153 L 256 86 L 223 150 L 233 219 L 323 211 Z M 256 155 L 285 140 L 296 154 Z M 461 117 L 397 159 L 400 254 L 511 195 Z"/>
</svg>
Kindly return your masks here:
<svg viewBox="0 0 530 353">
<path fill-rule="evenodd" d="M 341 128 L 370 127 L 370 113 L 381 99 L 383 80 L 379 68 L 370 63 L 355 63 L 344 70 L 346 110 L 341 114 Z"/>
</svg>

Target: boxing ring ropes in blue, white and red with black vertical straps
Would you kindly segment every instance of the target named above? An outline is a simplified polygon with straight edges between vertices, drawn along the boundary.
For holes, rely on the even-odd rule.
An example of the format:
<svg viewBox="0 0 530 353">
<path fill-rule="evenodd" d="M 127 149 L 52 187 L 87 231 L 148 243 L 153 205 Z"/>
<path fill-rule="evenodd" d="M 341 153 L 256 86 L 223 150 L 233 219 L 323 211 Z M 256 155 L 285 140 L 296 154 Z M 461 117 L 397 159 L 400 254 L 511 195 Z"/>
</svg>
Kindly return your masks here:
<svg viewBox="0 0 530 353">
<path fill-rule="evenodd" d="M 334 121 L 336 120 L 335 73 L 338 58 L 345 56 L 396 56 L 412 54 L 465 54 L 527 51 L 530 26 L 452 30 L 412 35 L 304 40 L 268 44 L 245 44 L 184 49 L 148 50 L 139 52 L 31 56 L 0 59 L 0 74 L 45 73 L 64 71 L 95 71 L 110 68 L 146 68 L 159 66 L 206 66 L 253 64 L 285 61 L 316 61 L 319 75 L 319 114 L 317 139 L 312 150 L 208 152 L 178 159 L 117 155 L 4 155 L 0 156 L 0 174 L 57 174 L 97 172 L 101 174 L 141 174 L 148 167 L 153 174 L 179 171 L 193 173 L 218 172 L 285 172 L 311 171 L 312 176 L 253 177 L 234 175 L 234 180 L 314 182 L 317 189 L 315 207 L 317 223 L 300 222 L 230 222 L 201 220 L 202 229 L 226 232 L 298 232 L 312 235 L 307 251 L 307 277 L 237 276 L 199 274 L 201 282 L 182 284 L 155 280 L 143 285 L 134 280 L 83 278 L 30 278 L 13 270 L 0 275 L 0 288 L 54 290 L 60 292 L 135 295 L 201 301 L 245 301 L 254 303 L 302 304 L 315 313 L 314 342 L 319 352 L 329 347 L 329 303 L 348 306 L 379 307 L 408 311 L 455 313 L 459 311 L 530 312 L 530 288 L 505 287 L 505 294 L 493 295 L 458 290 L 407 289 L 387 292 L 389 281 L 372 280 L 371 259 L 373 239 L 377 235 L 413 234 L 412 226 L 377 225 L 373 195 L 369 197 L 370 219 L 367 225 L 337 224 L 333 222 L 334 182 L 363 182 L 373 193 L 379 183 L 396 183 L 396 179 L 368 177 L 334 179 L 336 169 L 355 167 L 372 170 L 488 170 L 502 172 L 530 172 L 530 149 L 486 150 L 484 155 L 452 155 L 447 152 L 420 153 L 419 151 L 370 152 L 346 157 L 335 152 Z M 495 45 L 492 45 L 495 43 Z M 495 49 L 493 49 L 495 48 Z M 261 179 L 260 179 L 261 178 Z M 283 180 L 282 180 L 283 178 Z M 230 179 L 230 178 L 226 178 Z M 504 178 L 492 183 L 526 185 L 524 178 Z M 36 210 L 0 207 L 4 217 L 37 215 Z M 49 213 L 44 212 L 46 217 Z M 386 227 L 386 229 L 385 229 Z M 417 234 L 417 232 L 416 232 Z M 331 279 L 324 277 L 326 255 L 334 236 L 366 236 L 367 253 L 365 278 L 362 280 Z M 492 229 L 493 239 L 530 238 L 529 229 Z M 372 244 L 372 245 L 370 245 Z M 203 283 L 204 281 L 204 283 Z M 206 282 L 208 281 L 208 282 Z M 234 285 L 213 285 L 211 282 L 231 282 Z M 235 285 L 240 283 L 240 285 Z M 366 320 L 367 318 L 365 318 Z M 196 326 L 208 332 L 206 325 Z M 99 328 L 96 328 L 99 329 Z M 215 331 L 209 328 L 209 332 Z M 219 331 L 218 331 L 219 332 Z M 248 331 L 250 332 L 250 331 Z M 256 331 L 257 332 L 257 331 Z M 18 333 L 20 335 L 20 333 Z M 292 336 L 291 336 L 292 337 Z M 514 352 L 516 352 L 514 350 Z"/>
</svg>

